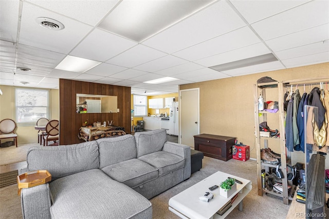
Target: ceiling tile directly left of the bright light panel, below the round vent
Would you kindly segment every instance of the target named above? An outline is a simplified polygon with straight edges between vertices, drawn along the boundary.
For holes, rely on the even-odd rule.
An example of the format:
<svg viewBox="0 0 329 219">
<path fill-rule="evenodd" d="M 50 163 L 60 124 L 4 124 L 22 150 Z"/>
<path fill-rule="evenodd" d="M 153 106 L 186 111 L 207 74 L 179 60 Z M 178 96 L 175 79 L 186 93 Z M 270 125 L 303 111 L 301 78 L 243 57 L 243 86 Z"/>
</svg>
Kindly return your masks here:
<svg viewBox="0 0 329 219">
<path fill-rule="evenodd" d="M 17 62 L 54 68 L 65 58 L 65 54 L 19 45 Z"/>
</svg>

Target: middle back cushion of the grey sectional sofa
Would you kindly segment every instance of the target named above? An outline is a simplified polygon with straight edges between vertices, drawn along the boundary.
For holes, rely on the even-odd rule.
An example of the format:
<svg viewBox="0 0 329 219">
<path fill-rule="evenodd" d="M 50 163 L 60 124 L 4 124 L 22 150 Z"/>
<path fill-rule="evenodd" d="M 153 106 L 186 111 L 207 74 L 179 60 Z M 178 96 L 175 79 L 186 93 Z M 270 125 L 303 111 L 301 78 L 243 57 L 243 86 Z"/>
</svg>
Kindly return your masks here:
<svg viewBox="0 0 329 219">
<path fill-rule="evenodd" d="M 132 135 L 101 138 L 97 140 L 97 143 L 99 145 L 100 168 L 136 158 L 136 142 Z"/>
</svg>

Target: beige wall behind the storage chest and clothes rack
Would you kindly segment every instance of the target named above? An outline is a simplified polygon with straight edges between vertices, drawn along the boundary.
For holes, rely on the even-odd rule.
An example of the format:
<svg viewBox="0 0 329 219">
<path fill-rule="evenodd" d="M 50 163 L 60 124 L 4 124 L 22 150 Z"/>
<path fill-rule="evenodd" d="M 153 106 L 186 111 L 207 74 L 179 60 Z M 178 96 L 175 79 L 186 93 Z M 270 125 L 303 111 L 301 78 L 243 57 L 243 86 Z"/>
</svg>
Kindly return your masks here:
<svg viewBox="0 0 329 219">
<path fill-rule="evenodd" d="M 239 142 L 250 145 L 250 157 L 255 158 L 253 84 L 264 76 L 277 81 L 324 78 L 329 77 L 329 63 L 180 85 L 180 90 L 200 89 L 200 134 L 236 137 Z M 278 101 L 276 92 L 266 95 L 266 101 Z M 279 129 L 277 118 L 268 118 L 271 129 Z M 269 140 L 269 147 L 280 152 L 279 141 Z M 302 152 L 296 154 L 303 156 Z"/>
</svg>

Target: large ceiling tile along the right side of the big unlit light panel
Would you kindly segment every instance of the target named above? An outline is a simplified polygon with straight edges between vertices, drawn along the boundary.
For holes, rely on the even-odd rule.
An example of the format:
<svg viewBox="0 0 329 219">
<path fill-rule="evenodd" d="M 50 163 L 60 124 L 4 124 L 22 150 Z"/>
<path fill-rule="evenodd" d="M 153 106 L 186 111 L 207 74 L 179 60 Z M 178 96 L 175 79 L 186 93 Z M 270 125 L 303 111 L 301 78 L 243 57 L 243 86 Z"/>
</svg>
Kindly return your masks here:
<svg viewBox="0 0 329 219">
<path fill-rule="evenodd" d="M 142 44 L 172 53 L 245 26 L 225 2 L 217 2 Z"/>
</svg>

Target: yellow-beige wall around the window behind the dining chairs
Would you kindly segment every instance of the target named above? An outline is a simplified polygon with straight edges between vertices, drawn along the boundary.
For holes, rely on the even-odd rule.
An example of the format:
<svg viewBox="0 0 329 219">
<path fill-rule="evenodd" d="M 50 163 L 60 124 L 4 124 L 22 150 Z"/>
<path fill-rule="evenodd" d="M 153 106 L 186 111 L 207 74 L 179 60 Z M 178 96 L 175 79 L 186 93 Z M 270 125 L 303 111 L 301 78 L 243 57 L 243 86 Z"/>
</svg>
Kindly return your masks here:
<svg viewBox="0 0 329 219">
<path fill-rule="evenodd" d="M 0 96 L 0 121 L 3 119 L 15 119 L 15 90 L 13 86 L 0 85 L 3 95 Z M 51 119 L 59 119 L 59 90 L 50 89 Z M 38 131 L 32 126 L 17 126 L 15 133 L 17 141 L 21 143 L 38 142 Z"/>
</svg>

